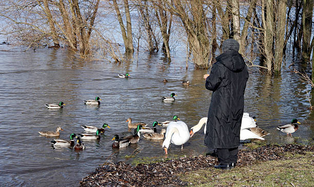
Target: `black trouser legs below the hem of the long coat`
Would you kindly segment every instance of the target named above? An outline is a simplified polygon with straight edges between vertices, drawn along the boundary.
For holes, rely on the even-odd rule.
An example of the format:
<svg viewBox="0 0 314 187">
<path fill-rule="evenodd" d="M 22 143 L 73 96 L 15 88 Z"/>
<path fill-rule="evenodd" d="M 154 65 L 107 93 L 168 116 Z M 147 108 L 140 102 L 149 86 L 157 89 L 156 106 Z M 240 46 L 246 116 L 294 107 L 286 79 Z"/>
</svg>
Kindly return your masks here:
<svg viewBox="0 0 314 187">
<path fill-rule="evenodd" d="M 217 149 L 218 161 L 221 164 L 237 163 L 238 148 Z"/>
</svg>

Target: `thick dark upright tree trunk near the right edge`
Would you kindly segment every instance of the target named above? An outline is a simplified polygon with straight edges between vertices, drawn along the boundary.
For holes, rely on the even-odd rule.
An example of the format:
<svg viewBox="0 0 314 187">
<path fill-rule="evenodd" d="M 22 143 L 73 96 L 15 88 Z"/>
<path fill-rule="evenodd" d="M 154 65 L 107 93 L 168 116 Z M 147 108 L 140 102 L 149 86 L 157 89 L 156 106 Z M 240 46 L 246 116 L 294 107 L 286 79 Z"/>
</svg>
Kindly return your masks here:
<svg viewBox="0 0 314 187">
<path fill-rule="evenodd" d="M 311 56 L 311 34 L 312 34 L 313 0 L 303 0 L 303 38 L 302 58 L 309 63 Z"/>
</svg>

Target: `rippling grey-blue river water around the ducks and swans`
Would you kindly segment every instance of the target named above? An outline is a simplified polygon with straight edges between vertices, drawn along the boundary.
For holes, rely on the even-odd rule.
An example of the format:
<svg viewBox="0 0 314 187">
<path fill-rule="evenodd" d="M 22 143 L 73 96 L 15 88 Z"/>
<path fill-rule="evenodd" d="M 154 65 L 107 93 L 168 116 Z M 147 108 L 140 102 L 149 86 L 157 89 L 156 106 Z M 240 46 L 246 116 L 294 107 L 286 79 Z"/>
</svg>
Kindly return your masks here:
<svg viewBox="0 0 314 187">
<path fill-rule="evenodd" d="M 115 64 L 103 61 L 80 61 L 75 55 L 59 49 L 37 49 L 22 52 L 13 46 L 0 46 L 0 185 L 70 186 L 78 185 L 83 177 L 106 162 L 162 156 L 162 141 L 141 138 L 138 144 L 112 150 L 112 137 L 131 134 L 126 119 L 152 124 L 154 120 L 171 119 L 173 115 L 188 127 L 207 115 L 211 92 L 204 86 L 207 70 L 185 68 L 185 53 L 174 54 L 171 64 L 160 54 L 140 53 L 133 63 Z M 297 60 L 297 59 L 292 59 Z M 295 64 L 299 68 L 300 64 Z M 285 67 L 289 64 L 285 65 Z M 245 112 L 256 116 L 259 126 L 271 134 L 267 142 L 308 143 L 314 137 L 313 115 L 306 87 L 298 76 L 283 69 L 282 76 L 269 77 L 249 68 L 250 77 L 245 93 Z M 128 72 L 131 78 L 119 78 Z M 167 83 L 163 79 L 168 80 Z M 190 86 L 181 85 L 189 80 Z M 173 103 L 164 103 L 162 96 L 174 92 Z M 102 99 L 100 107 L 89 107 L 83 100 Z M 49 102 L 66 103 L 60 110 L 48 110 Z M 276 131 L 280 124 L 292 118 L 301 121 L 293 137 Z M 38 131 L 54 131 L 61 126 L 59 138 L 70 133 L 82 133 L 82 125 L 111 127 L 100 141 L 84 141 L 86 150 L 74 152 L 69 148 L 53 149 L 53 138 Z M 161 128 L 158 129 L 160 131 Z M 203 129 L 185 145 L 171 146 L 169 155 L 194 155 L 206 152 Z"/>
</svg>

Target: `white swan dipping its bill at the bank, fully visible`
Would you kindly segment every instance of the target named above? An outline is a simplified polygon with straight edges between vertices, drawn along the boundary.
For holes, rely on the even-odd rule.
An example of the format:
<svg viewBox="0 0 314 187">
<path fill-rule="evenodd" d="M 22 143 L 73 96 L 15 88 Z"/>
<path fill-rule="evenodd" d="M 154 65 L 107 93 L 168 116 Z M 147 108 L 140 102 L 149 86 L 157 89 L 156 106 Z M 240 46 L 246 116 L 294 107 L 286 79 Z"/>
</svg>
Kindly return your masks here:
<svg viewBox="0 0 314 187">
<path fill-rule="evenodd" d="M 171 121 L 168 124 L 166 130 L 166 138 L 163 142 L 163 148 L 165 154 L 168 154 L 168 148 L 170 143 L 175 144 L 176 146 L 181 146 L 183 149 L 183 144 L 190 139 L 189 129 L 185 122 L 183 121 Z"/>
</svg>

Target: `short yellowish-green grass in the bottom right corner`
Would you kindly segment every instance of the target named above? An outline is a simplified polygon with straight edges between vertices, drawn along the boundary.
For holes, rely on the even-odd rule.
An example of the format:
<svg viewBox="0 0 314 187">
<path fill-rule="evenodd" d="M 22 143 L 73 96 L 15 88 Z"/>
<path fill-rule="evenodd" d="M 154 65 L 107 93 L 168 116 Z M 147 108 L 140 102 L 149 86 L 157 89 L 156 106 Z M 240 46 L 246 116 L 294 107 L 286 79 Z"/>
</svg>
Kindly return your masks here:
<svg viewBox="0 0 314 187">
<path fill-rule="evenodd" d="M 229 171 L 211 168 L 179 176 L 191 186 L 314 186 L 314 152 L 285 156 L 286 160 L 256 162 Z"/>
</svg>

